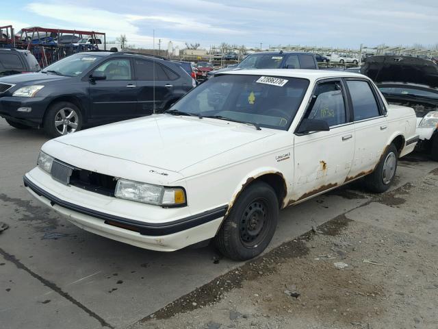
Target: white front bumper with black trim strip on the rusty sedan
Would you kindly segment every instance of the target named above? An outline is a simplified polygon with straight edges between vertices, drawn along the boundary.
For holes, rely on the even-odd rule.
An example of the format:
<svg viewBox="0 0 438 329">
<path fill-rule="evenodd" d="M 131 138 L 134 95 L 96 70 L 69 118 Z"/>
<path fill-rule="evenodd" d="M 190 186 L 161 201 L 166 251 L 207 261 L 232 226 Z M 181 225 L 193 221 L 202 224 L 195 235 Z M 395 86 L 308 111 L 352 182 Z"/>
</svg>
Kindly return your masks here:
<svg viewBox="0 0 438 329">
<path fill-rule="evenodd" d="M 36 170 L 36 169 L 34 169 Z M 38 169 L 41 171 L 40 169 Z M 32 173 L 31 171 L 30 173 Z M 216 235 L 220 223 L 227 212 L 227 206 L 214 208 L 201 212 L 200 214 L 185 216 L 182 218 L 165 219 L 159 221 L 157 218 L 151 219 L 151 221 L 142 221 L 138 218 L 132 219 L 127 217 L 121 217 L 114 213 L 101 211 L 105 207 L 101 207 L 101 210 L 90 208 L 86 204 L 82 204 L 76 198 L 76 202 L 73 200 L 66 200 L 65 193 L 62 195 L 60 191 L 56 191 L 57 188 L 53 188 L 53 191 L 47 186 L 42 187 L 42 184 L 38 184 L 35 181 L 35 177 L 32 177 L 30 173 L 27 173 L 23 178 L 27 191 L 31 193 L 36 199 L 55 210 L 60 215 L 65 217 L 68 221 L 75 224 L 83 230 L 88 230 L 94 234 L 105 236 L 109 239 L 128 243 L 130 245 L 136 245 L 145 249 L 152 249 L 157 251 L 170 252 L 194 243 L 211 239 Z M 39 173 L 40 175 L 43 173 Z M 49 175 L 45 174 L 50 180 Z M 38 177 L 38 172 L 36 175 Z M 54 182 L 53 186 L 59 188 L 67 187 L 58 182 Z M 115 199 L 114 197 L 105 197 L 102 195 L 93 195 L 88 191 L 81 191 L 74 186 L 68 186 L 71 189 L 71 199 L 75 199 L 78 194 L 92 195 L 86 197 L 86 199 Z M 91 194 L 90 194 L 91 193 Z M 126 200 L 116 199 L 117 202 L 125 202 Z M 99 202 L 94 202 L 99 204 Z M 105 203 L 105 202 L 104 202 Z M 110 202 L 107 203 L 107 208 L 111 208 Z M 155 214 L 158 212 L 175 211 L 175 209 L 164 209 L 157 206 L 151 206 L 146 204 L 140 204 L 139 202 L 127 202 L 126 204 L 132 204 L 136 207 L 144 208 L 144 213 L 148 213 L 148 208 L 155 210 Z M 125 207 L 125 211 L 131 210 L 132 207 Z M 134 207 L 135 208 L 135 207 Z"/>
</svg>

